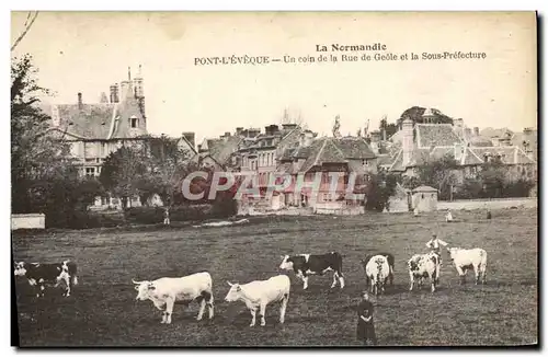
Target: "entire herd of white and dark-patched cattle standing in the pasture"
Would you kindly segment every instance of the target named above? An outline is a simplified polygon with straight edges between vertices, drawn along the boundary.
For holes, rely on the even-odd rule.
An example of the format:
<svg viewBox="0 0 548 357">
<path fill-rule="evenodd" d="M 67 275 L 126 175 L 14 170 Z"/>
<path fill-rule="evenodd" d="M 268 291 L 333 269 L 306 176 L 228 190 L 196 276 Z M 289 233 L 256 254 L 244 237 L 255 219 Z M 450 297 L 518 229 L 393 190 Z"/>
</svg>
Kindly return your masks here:
<svg viewBox="0 0 548 357">
<path fill-rule="evenodd" d="M 473 269 L 476 284 L 480 280 L 486 283 L 487 252 L 482 249 L 458 249 L 447 247 L 448 255 L 454 263 L 460 283 L 465 284 L 468 269 Z M 311 275 L 323 275 L 333 272 L 334 288 L 338 283 L 340 288 L 344 288 L 344 275 L 342 272 L 343 256 L 336 252 L 321 255 L 298 254 L 283 256 L 281 269 L 293 270 L 304 283 L 304 289 L 308 288 L 308 278 Z M 375 295 L 381 295 L 385 286 L 389 283 L 393 285 L 393 255 L 379 253 L 367 256 L 361 261 L 365 275 L 366 288 Z M 442 258 L 437 252 L 426 254 L 415 254 L 408 262 L 410 289 L 413 290 L 415 284 L 420 287 L 423 280 L 429 279 L 431 291 L 436 290 L 439 284 L 439 269 Z M 73 262 L 64 261 L 56 264 L 24 263 L 15 264 L 15 276 L 25 277 L 31 286 L 36 289 L 36 297 L 43 297 L 46 285 L 65 285 L 64 296 L 70 296 L 71 287 L 78 284 L 77 266 Z M 196 273 L 184 277 L 162 277 L 156 280 L 132 280 L 135 290 L 138 291 L 136 300 L 151 300 L 155 307 L 162 311 L 161 323 L 171 323 L 171 315 L 175 301 L 189 306 L 196 301 L 199 311 L 196 320 L 202 320 L 205 309 L 208 309 L 208 318 L 214 318 L 214 296 L 213 280 L 207 272 Z M 285 311 L 289 299 L 290 281 L 286 275 L 277 275 L 266 280 L 255 280 L 248 284 L 232 284 L 227 281 L 230 290 L 225 297 L 225 301 L 242 301 L 251 312 L 251 324 L 255 324 L 255 315 L 259 312 L 261 325 L 266 324 L 266 306 L 279 302 L 279 322 L 284 323 Z"/>
</svg>

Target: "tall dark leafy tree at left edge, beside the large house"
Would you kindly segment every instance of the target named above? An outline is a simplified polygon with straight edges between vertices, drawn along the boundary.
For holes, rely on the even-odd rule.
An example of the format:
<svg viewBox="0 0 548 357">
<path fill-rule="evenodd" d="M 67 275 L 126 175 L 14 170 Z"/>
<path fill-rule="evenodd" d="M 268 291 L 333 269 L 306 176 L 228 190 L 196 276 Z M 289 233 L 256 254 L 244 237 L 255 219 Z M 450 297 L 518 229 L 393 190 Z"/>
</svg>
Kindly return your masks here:
<svg viewBox="0 0 548 357">
<path fill-rule="evenodd" d="M 11 64 L 11 181 L 12 211 L 32 212 L 37 191 L 47 182 L 76 180 L 69 146 L 53 135 L 50 118 L 38 106 L 39 87 L 32 57 L 13 58 Z M 42 209 L 45 209 L 42 207 Z"/>
</svg>

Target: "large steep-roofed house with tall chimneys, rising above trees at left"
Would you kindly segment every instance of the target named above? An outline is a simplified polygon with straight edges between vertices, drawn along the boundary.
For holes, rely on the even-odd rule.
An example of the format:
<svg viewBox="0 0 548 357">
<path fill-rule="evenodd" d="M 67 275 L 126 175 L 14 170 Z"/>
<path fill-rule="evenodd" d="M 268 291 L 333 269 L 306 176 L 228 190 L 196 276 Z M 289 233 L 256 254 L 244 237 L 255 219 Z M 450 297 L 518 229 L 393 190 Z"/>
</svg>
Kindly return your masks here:
<svg viewBox="0 0 548 357">
<path fill-rule="evenodd" d="M 81 175 L 99 176 L 104 160 L 123 146 L 142 146 L 148 140 L 145 111 L 144 78 L 139 71 L 110 87 L 110 96 L 101 93 L 99 102 L 85 101 L 78 93 L 75 103 L 43 104 L 42 108 L 52 117 L 52 134 L 70 145 L 70 153 Z M 183 133 L 178 140 L 182 150 L 196 152 L 194 134 Z M 136 197 L 130 206 L 140 205 Z M 119 207 L 113 197 L 98 197 L 92 208 Z"/>
</svg>

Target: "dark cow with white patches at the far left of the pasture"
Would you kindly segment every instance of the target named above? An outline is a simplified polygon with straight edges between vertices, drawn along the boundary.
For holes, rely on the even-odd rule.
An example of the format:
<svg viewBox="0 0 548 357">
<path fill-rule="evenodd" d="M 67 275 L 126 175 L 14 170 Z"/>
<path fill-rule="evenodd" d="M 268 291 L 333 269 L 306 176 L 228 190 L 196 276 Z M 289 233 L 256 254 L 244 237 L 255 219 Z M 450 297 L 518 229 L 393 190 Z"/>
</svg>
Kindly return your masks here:
<svg viewBox="0 0 548 357">
<path fill-rule="evenodd" d="M 77 265 L 70 261 L 61 263 L 25 263 L 15 264 L 14 275 L 25 277 L 34 287 L 36 297 L 44 297 L 46 285 L 58 287 L 65 284 L 64 297 L 69 297 L 72 286 L 78 285 Z"/>
</svg>

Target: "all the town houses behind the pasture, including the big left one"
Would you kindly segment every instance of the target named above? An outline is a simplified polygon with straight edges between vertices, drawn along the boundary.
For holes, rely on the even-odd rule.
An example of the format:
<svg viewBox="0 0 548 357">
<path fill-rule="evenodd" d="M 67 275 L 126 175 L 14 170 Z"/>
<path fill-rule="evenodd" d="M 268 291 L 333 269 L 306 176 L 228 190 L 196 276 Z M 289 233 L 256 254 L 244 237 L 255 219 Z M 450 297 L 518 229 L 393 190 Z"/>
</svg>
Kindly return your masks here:
<svg viewBox="0 0 548 357">
<path fill-rule="evenodd" d="M 148 140 L 144 79 L 140 68 L 132 79 L 110 87 L 110 96 L 102 93 L 99 103 L 87 103 L 81 93 L 72 104 L 44 105 L 52 116 L 53 133 L 71 145 L 71 153 L 82 175 L 98 176 L 105 158 L 119 147 Z M 429 160 L 453 156 L 460 178 L 478 173 L 484 162 L 496 160 L 515 177 L 536 177 L 537 134 L 530 128 L 523 134 L 510 130 L 494 137 L 468 128 L 463 119 L 453 119 L 434 108 L 412 107 L 397 119 L 398 130 L 390 137 L 378 130 L 358 136 L 341 136 L 339 117 L 331 136 L 318 136 L 292 123 L 287 112 L 283 123 L 261 128 L 238 127 L 218 138 L 195 142 L 194 133 L 175 138 L 189 160 L 214 170 L 253 172 L 264 194 L 276 174 L 289 175 L 287 188 L 274 192 L 269 199 L 244 197 L 244 204 L 260 209 L 307 207 L 315 211 L 349 209 L 359 212 L 363 203 L 347 197 L 351 174 L 361 177 L 355 188 L 363 189 L 367 177 L 378 170 L 413 176 L 416 168 Z M 333 194 L 329 172 L 340 172 Z M 320 173 L 318 194 L 296 188 L 296 180 L 311 180 Z M 116 198 L 98 198 L 96 207 L 116 206 Z M 140 205 L 135 198 L 130 205 Z M 362 207 L 362 208 L 359 208 Z"/>
</svg>

